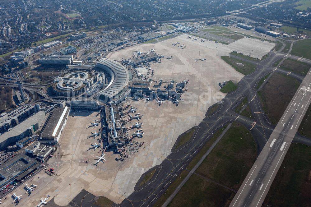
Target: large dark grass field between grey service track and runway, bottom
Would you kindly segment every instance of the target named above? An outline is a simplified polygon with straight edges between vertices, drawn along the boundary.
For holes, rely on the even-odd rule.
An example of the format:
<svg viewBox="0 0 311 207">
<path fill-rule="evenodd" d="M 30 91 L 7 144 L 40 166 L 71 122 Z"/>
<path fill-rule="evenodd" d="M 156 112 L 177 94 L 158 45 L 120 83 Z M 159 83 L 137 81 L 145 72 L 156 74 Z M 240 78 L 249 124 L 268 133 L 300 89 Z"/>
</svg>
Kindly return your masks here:
<svg viewBox="0 0 311 207">
<path fill-rule="evenodd" d="M 228 206 L 235 195 L 229 189 L 239 189 L 256 155 L 253 136 L 234 122 L 169 206 Z"/>
</svg>

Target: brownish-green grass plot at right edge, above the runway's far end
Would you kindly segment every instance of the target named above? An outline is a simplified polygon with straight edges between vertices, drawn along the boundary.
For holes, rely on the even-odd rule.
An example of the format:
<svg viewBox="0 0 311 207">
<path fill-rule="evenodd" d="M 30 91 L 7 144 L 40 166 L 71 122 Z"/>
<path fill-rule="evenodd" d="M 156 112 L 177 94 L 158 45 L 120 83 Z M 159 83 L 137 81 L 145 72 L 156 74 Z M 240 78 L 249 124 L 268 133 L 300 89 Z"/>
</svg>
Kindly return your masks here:
<svg viewBox="0 0 311 207">
<path fill-rule="evenodd" d="M 307 72 L 310 69 L 310 65 L 308 63 L 292 59 L 285 59 L 284 62 L 279 67 L 286 71 L 290 71 L 301 76 L 306 76 Z"/>
</svg>

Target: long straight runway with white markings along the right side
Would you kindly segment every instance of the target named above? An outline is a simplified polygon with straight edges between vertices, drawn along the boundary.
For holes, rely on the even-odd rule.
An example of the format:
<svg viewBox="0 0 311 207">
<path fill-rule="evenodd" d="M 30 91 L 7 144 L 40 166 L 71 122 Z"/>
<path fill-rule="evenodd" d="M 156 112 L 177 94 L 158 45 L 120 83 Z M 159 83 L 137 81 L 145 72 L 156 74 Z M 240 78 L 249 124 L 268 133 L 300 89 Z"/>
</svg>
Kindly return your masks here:
<svg viewBox="0 0 311 207">
<path fill-rule="evenodd" d="M 311 99 L 311 70 L 299 86 L 230 206 L 261 206 Z"/>
</svg>

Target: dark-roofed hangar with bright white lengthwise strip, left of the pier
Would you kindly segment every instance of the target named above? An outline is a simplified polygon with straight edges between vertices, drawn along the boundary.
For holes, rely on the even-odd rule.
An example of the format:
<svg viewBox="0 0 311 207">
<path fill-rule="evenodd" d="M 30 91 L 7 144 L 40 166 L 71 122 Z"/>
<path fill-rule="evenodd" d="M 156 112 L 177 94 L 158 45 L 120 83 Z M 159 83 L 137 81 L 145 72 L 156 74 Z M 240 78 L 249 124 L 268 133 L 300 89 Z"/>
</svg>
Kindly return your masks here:
<svg viewBox="0 0 311 207">
<path fill-rule="evenodd" d="M 58 107 L 55 108 L 47 118 L 44 127 L 41 131 L 39 141 L 40 142 L 58 142 L 63 129 L 67 123 L 70 107 Z"/>
</svg>

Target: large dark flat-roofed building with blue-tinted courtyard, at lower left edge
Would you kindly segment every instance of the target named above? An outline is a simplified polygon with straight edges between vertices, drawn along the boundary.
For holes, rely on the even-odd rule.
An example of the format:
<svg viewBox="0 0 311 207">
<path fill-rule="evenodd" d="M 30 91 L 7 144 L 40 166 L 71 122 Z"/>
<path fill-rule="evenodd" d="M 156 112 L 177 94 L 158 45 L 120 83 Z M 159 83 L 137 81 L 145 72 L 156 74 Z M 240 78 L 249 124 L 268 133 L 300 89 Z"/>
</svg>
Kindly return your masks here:
<svg viewBox="0 0 311 207">
<path fill-rule="evenodd" d="M 16 155 L 14 158 L 0 165 L 0 188 L 2 189 L 15 179 L 21 180 L 41 166 L 37 160 L 26 154 Z"/>
</svg>

